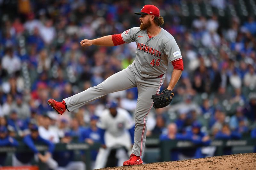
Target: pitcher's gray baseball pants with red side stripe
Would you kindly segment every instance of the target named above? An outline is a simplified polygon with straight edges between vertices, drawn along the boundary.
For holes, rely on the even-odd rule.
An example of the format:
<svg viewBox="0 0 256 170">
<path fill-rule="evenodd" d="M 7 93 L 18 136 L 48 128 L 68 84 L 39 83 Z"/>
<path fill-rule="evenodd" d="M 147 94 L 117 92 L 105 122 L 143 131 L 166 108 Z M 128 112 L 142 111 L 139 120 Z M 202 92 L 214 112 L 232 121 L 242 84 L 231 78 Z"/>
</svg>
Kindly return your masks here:
<svg viewBox="0 0 256 170">
<path fill-rule="evenodd" d="M 161 78 L 146 79 L 142 78 L 134 69 L 132 70 L 128 67 L 110 76 L 99 85 L 90 87 L 83 92 L 68 97 L 64 99 L 64 101 L 66 102 L 68 110 L 73 111 L 109 93 L 137 87 L 138 100 L 135 109 L 135 132 L 132 153 L 136 156 L 142 156 L 146 142 L 147 115 L 153 104 L 151 96 L 159 92 L 163 82 L 164 76 Z"/>
</svg>

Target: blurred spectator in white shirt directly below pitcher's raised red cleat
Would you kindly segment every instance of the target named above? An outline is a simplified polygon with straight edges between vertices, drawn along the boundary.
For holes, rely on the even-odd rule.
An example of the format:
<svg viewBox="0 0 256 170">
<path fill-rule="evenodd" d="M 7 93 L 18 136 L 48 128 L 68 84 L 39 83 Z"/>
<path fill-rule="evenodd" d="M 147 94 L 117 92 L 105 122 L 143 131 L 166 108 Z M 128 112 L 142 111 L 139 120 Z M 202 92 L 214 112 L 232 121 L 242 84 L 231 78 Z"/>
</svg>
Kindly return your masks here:
<svg viewBox="0 0 256 170">
<path fill-rule="evenodd" d="M 43 117 L 43 122 L 42 125 L 39 126 L 39 135 L 45 139 L 45 140 L 49 140 L 52 143 L 59 143 L 60 139 L 59 139 L 59 134 L 56 130 L 51 129 L 50 127 L 51 125 L 51 118 L 49 117 L 49 115 L 45 114 Z"/>
</svg>

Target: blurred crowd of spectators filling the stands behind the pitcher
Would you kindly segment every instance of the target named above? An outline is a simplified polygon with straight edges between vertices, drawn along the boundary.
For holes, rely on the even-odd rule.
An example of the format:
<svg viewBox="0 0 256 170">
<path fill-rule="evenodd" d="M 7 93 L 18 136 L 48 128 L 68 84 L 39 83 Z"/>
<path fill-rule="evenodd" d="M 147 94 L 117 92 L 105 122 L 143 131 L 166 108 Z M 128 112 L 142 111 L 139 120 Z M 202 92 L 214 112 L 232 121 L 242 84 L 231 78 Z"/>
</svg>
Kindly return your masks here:
<svg viewBox="0 0 256 170">
<path fill-rule="evenodd" d="M 209 1 L 216 9 L 235 4 L 220 2 Z M 200 136 L 201 142 L 207 142 L 254 133 L 255 16 L 242 20 L 234 15 L 223 22 L 213 13 L 195 16 L 187 23 L 180 13 L 181 1 L 152 4 L 160 9 L 163 28 L 180 47 L 184 71 L 172 103 L 150 111 L 147 136 L 174 139 L 176 134 L 189 134 L 193 140 Z M 98 85 L 132 63 L 135 43 L 86 48 L 79 43 L 139 26 L 134 11 L 140 11 L 143 2 L 27 0 L 18 4 L 0 1 L 0 5 L 0 126 L 11 137 L 24 137 L 37 125 L 40 136 L 53 143 L 59 143 L 65 134 L 79 138 L 92 121 L 97 122 L 95 116 L 101 115 L 111 99 L 117 99 L 119 107 L 133 116 L 136 88 L 109 94 L 62 116 L 52 112 L 47 100 L 61 101 Z M 162 90 L 171 73 L 170 64 Z"/>
</svg>

